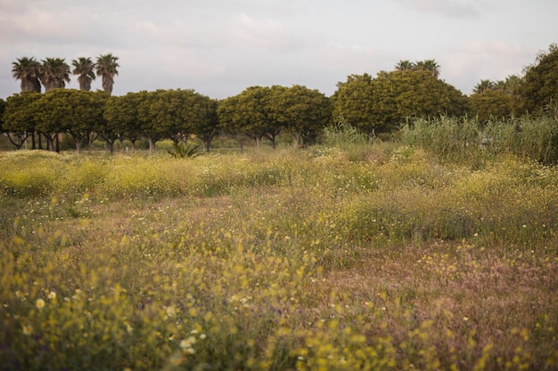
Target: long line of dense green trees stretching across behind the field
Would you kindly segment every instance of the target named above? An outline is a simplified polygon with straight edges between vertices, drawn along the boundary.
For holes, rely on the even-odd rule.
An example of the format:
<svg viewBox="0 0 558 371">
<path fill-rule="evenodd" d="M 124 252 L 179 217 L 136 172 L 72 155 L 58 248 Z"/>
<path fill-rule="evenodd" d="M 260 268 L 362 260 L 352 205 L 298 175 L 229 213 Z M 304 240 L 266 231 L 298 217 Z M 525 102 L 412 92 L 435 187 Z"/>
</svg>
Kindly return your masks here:
<svg viewBox="0 0 558 371">
<path fill-rule="evenodd" d="M 470 96 L 439 78 L 435 60 L 400 60 L 392 71 L 381 71 L 376 77 L 367 73 L 350 75 L 337 84 L 331 97 L 302 85 L 250 86 L 220 101 L 181 89 L 111 96 L 108 88 L 103 92 L 89 91 L 93 69 L 103 77 L 110 75 L 100 67 L 102 57 L 93 64 L 90 59 L 73 61 L 74 73 L 83 77 L 79 80 L 80 90 L 63 89 L 60 81 L 47 89 L 50 80 L 42 77 L 39 81 L 46 84 L 45 93 L 38 93 L 37 89 L 27 89 L 32 85 L 31 78 L 24 84 L 23 76 L 16 77 L 14 73 L 14 77 L 21 78 L 22 92 L 7 101 L 0 100 L 3 133 L 17 148 L 29 136 L 34 141 L 37 133 L 39 148 L 43 139 L 46 147 L 53 150 L 57 133 L 69 133 L 78 151 L 96 139 L 103 139 L 111 150 L 117 140 L 126 139 L 135 145 L 140 138 L 149 141 L 154 150 L 161 139 L 185 143 L 193 134 L 209 151 L 217 133 L 239 140 L 248 137 L 257 148 L 263 139 L 275 147 L 276 136 L 289 133 L 298 146 L 316 142 L 324 127 L 340 117 L 360 131 L 375 135 L 397 130 L 408 117 L 466 115 L 484 122 L 533 113 L 558 99 L 556 44 L 548 52 L 540 52 L 522 77 L 511 76 L 498 82 L 481 80 Z M 106 60 L 112 73 L 117 74 L 118 58 L 108 54 Z M 21 65 L 21 60 L 18 63 Z M 88 67 L 78 69 L 85 65 Z M 37 70 L 40 75 L 46 69 Z"/>
</svg>

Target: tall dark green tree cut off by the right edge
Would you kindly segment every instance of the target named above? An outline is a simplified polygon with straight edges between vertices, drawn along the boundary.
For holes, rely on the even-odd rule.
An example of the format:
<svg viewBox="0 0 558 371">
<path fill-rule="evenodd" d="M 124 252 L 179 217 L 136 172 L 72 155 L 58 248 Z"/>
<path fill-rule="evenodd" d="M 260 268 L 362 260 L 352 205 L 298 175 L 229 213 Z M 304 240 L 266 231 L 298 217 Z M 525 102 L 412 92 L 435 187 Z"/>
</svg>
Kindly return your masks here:
<svg viewBox="0 0 558 371">
<path fill-rule="evenodd" d="M 558 44 L 551 44 L 548 52 L 539 52 L 523 72 L 519 85 L 521 111 L 534 112 L 558 101 Z"/>
</svg>

